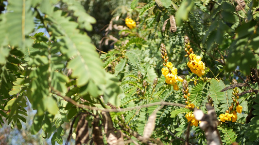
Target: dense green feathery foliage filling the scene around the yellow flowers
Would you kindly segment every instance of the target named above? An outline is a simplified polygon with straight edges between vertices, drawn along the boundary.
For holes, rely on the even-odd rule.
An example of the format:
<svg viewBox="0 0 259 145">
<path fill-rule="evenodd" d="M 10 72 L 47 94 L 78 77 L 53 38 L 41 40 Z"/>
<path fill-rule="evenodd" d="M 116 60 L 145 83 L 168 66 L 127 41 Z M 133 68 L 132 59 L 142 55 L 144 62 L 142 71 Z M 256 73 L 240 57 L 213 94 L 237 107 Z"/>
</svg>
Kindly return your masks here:
<svg viewBox="0 0 259 145">
<path fill-rule="evenodd" d="M 111 144 L 110 134 L 121 131 L 125 142 L 180 145 L 188 139 L 200 145 L 207 144 L 206 135 L 188 125 L 185 115 L 193 109 L 184 106 L 192 103 L 207 113 L 205 104 L 210 103 L 224 145 L 259 142 L 256 0 L 244 0 L 240 11 L 231 0 L 2 1 L 1 128 L 22 130 L 29 106 L 36 112 L 31 134 L 42 131 L 42 138 L 52 145 L 64 144 L 64 136 L 83 136 L 78 126 L 92 138 L 85 144 Z M 171 15 L 175 32 L 175 24 L 166 24 Z M 126 27 L 127 17 L 136 22 L 135 28 Z M 185 35 L 192 50 L 185 50 Z M 184 56 L 191 51 L 205 63 L 201 77 L 186 65 L 189 58 Z M 176 82 L 179 90 L 161 73 L 168 61 L 187 81 Z M 226 87 L 231 88 L 223 90 Z M 242 113 L 237 113 L 237 121 L 222 122 L 219 116 L 233 113 L 238 104 Z M 71 124 L 69 134 L 66 123 Z M 148 135 L 147 128 L 152 129 Z M 136 134 L 151 136 L 139 139 Z"/>
</svg>

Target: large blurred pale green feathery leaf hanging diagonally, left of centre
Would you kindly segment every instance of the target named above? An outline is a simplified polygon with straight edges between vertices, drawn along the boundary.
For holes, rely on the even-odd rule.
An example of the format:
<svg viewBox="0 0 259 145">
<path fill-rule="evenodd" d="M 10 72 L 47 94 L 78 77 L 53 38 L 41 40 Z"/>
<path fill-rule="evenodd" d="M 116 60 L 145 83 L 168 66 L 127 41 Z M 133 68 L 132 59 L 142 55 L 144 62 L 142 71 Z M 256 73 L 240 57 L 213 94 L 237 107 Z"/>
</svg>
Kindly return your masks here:
<svg viewBox="0 0 259 145">
<path fill-rule="evenodd" d="M 56 11 L 49 16 L 52 34 L 60 36 L 61 52 L 69 58 L 68 68 L 72 70 L 72 77 L 77 78 L 77 86 L 81 87 L 91 79 L 95 84 L 104 84 L 104 70 L 95 46 L 90 43 L 86 33 L 81 34 L 77 23 L 69 21 L 69 17 L 62 16 L 62 11 Z"/>
</svg>

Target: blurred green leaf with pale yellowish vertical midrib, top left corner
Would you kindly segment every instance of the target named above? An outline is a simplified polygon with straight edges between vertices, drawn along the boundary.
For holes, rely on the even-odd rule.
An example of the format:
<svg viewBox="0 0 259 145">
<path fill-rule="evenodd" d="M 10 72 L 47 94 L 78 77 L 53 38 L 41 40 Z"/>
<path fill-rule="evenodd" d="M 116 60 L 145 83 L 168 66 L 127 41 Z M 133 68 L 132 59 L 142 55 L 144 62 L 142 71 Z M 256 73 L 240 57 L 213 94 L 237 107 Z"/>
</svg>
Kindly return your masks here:
<svg viewBox="0 0 259 145">
<path fill-rule="evenodd" d="M 0 22 L 0 25 L 4 25 L 4 27 L 0 29 L 5 30 L 10 45 L 25 48 L 32 44 L 27 38 L 35 27 L 31 0 L 8 0 L 4 19 Z"/>
</svg>

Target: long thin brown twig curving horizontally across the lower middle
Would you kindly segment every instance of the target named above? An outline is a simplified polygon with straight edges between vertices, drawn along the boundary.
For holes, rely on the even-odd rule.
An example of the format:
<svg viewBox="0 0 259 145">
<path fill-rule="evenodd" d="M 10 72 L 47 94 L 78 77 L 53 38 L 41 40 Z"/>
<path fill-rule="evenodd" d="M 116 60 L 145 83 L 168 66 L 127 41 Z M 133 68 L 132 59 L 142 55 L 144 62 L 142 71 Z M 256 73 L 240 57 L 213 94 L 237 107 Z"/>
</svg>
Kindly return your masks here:
<svg viewBox="0 0 259 145">
<path fill-rule="evenodd" d="M 154 103 L 145 104 L 145 105 L 141 105 L 141 106 L 130 107 L 130 108 L 121 108 L 121 109 L 105 109 L 104 108 L 104 109 L 102 109 L 102 108 L 98 108 L 98 107 L 93 107 L 93 106 L 87 106 L 87 105 L 84 105 L 84 104 L 80 104 L 79 102 L 75 102 L 73 99 L 69 98 L 68 96 L 62 96 L 59 92 L 53 92 L 53 94 L 58 95 L 59 97 L 62 97 L 66 101 L 72 103 L 73 105 L 75 105 L 75 106 L 77 106 L 79 108 L 85 108 L 85 109 L 97 110 L 97 111 L 104 111 L 104 112 L 131 111 L 131 110 L 146 108 L 146 107 L 155 106 L 155 105 L 171 105 L 171 106 L 186 107 L 186 105 L 184 105 L 184 104 L 162 101 L 162 102 L 154 102 Z"/>
</svg>

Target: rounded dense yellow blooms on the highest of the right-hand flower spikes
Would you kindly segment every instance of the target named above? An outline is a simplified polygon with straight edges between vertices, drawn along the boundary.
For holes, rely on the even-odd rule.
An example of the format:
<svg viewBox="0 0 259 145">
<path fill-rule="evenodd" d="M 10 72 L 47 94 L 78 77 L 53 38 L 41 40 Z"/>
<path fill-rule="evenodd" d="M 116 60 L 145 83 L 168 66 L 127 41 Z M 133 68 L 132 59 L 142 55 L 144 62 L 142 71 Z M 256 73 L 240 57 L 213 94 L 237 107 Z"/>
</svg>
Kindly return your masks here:
<svg viewBox="0 0 259 145">
<path fill-rule="evenodd" d="M 202 62 L 202 58 L 193 53 L 189 55 L 187 66 L 190 68 L 192 73 L 195 73 L 198 76 L 202 76 L 205 73 L 205 64 Z"/>
</svg>

